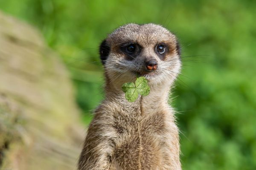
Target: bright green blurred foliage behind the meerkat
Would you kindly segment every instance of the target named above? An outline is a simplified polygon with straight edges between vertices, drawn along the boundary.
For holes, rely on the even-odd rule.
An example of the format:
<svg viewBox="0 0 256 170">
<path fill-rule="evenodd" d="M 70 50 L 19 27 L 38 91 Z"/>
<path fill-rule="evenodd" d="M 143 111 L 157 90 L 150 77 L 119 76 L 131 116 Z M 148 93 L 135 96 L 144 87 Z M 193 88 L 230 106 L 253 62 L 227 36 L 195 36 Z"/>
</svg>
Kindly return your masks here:
<svg viewBox="0 0 256 170">
<path fill-rule="evenodd" d="M 157 23 L 182 45 L 173 102 L 184 170 L 256 170 L 256 1 L 0 0 L 62 57 L 84 124 L 104 97 L 99 43 L 125 23 Z"/>
</svg>

